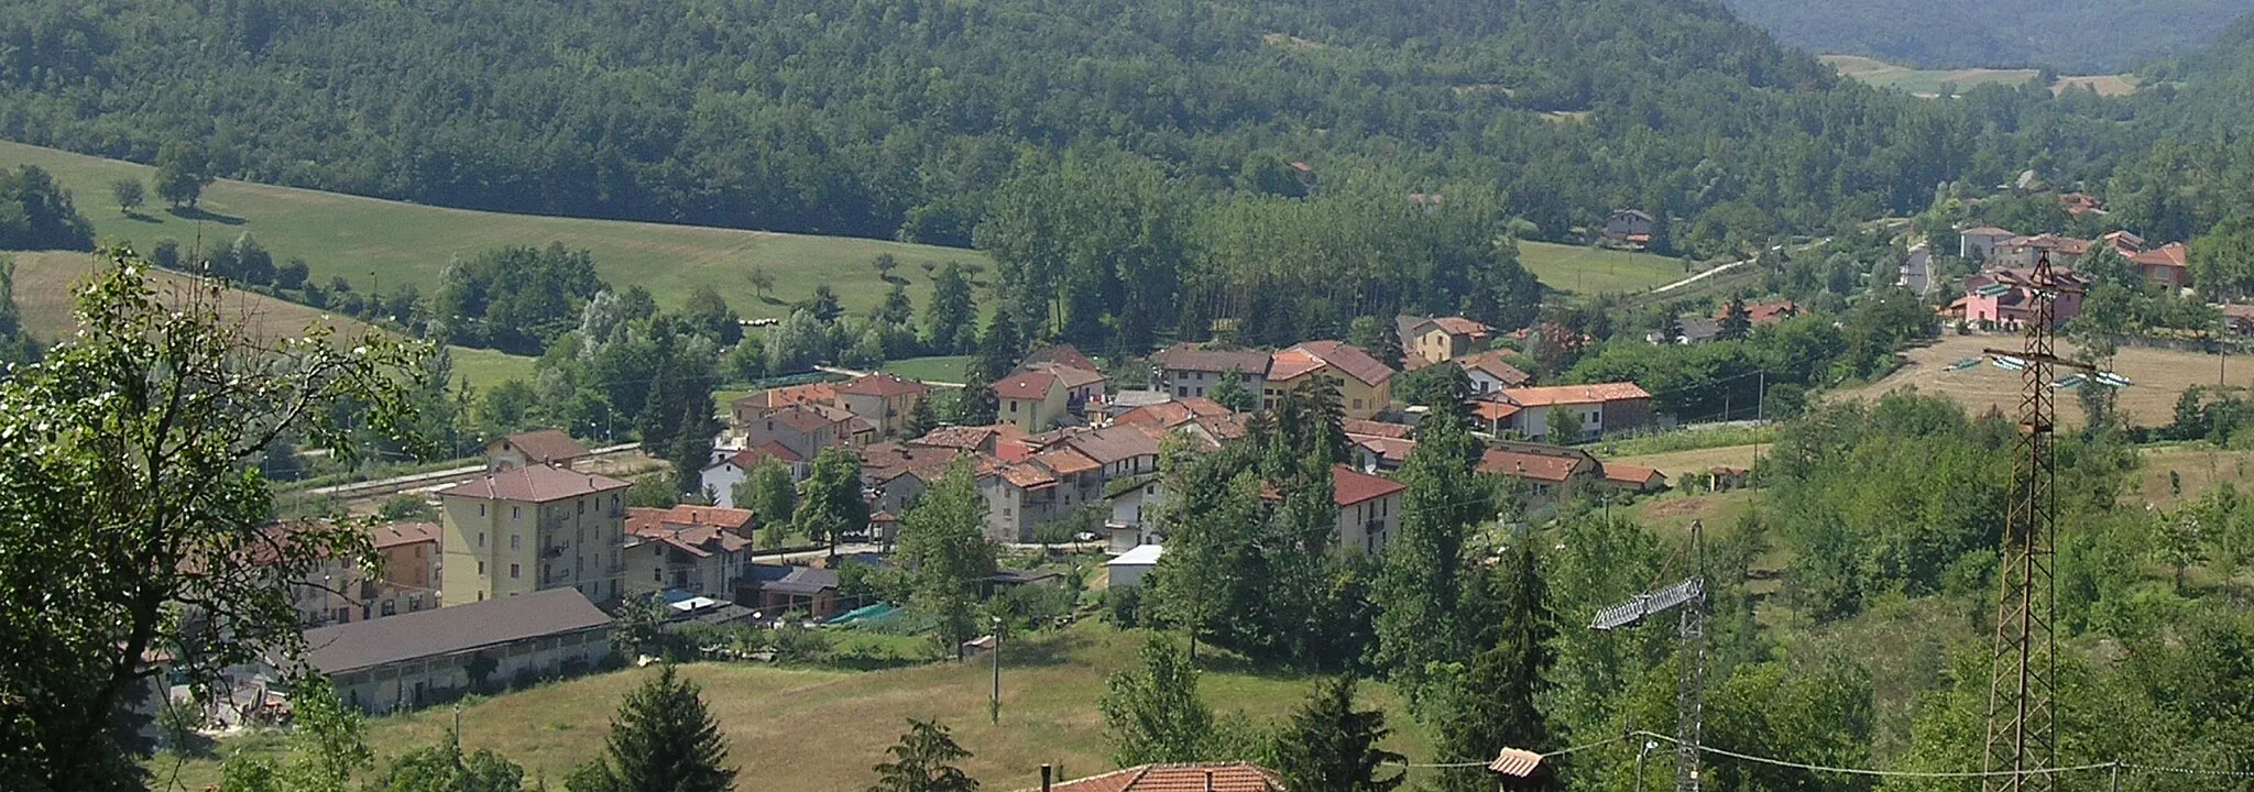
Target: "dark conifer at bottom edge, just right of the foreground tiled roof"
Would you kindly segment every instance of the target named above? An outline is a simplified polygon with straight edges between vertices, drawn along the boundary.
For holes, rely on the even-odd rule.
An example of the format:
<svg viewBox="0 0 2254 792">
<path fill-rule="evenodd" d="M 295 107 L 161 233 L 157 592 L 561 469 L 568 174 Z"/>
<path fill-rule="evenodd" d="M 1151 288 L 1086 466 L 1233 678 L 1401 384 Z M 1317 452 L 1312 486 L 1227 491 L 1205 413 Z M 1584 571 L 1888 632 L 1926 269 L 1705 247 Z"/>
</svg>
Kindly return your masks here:
<svg viewBox="0 0 2254 792">
<path fill-rule="evenodd" d="M 1406 776 L 1384 765 L 1402 754 L 1377 747 L 1391 734 L 1382 709 L 1355 709 L 1355 677 L 1319 682 L 1314 695 L 1292 713 L 1276 736 L 1283 788 L 1294 792 L 1386 792 Z"/>
</svg>

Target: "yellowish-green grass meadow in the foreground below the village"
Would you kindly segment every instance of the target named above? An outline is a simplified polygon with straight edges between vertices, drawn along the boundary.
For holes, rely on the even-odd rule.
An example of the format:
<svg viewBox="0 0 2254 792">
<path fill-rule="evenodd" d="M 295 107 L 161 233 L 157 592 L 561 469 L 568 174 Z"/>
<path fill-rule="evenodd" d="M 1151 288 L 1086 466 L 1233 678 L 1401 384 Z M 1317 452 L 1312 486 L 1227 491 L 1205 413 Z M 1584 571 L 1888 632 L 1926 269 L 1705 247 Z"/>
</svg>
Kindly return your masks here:
<svg viewBox="0 0 2254 792">
<path fill-rule="evenodd" d="M 985 662 L 935 664 L 897 670 L 845 673 L 778 666 L 694 664 L 683 673 L 703 684 L 737 763 L 737 790 L 861 790 L 875 781 L 870 765 L 899 740 L 906 718 L 940 718 L 974 758 L 962 763 L 987 790 L 1039 783 L 1041 763 L 1068 776 L 1113 770 L 1095 702 L 1104 677 L 1136 657 L 1141 634 L 1082 623 L 1062 634 L 1003 646 L 1001 724 L 987 724 L 992 670 Z M 462 706 L 462 747 L 489 747 L 525 765 L 527 781 L 564 774 L 600 756 L 618 702 L 656 668 L 618 670 Z M 1242 711 L 1274 722 L 1310 691 L 1312 677 L 1208 670 L 1201 693 L 1217 713 Z M 1429 760 L 1431 747 L 1384 684 L 1364 684 L 1368 702 L 1388 709 L 1395 727 L 1388 747 Z M 435 745 L 453 722 L 451 709 L 374 718 L 367 745 L 388 760 L 417 745 Z M 223 740 L 273 749 L 273 740 Z M 158 781 L 169 774 L 158 758 Z M 185 790 L 216 783 L 216 763 L 194 760 L 180 774 Z M 169 790 L 169 788 L 167 788 Z"/>
</svg>

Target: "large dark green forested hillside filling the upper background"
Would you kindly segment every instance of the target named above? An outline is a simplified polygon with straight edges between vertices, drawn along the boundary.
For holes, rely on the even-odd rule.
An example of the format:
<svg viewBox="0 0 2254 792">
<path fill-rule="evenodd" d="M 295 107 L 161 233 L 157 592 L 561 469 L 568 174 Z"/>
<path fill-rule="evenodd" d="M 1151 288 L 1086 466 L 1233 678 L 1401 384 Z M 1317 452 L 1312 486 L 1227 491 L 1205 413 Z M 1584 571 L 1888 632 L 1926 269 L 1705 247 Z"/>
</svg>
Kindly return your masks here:
<svg viewBox="0 0 2254 792">
<path fill-rule="evenodd" d="M 435 205 L 969 243 L 994 184 L 1161 160 L 1204 194 L 1386 169 L 1530 236 L 1679 250 L 1905 214 L 2110 124 L 1844 83 L 1715 2 L 307 2 L 0 9 L 0 135 Z M 1289 178 L 1303 162 L 1312 176 Z"/>
</svg>

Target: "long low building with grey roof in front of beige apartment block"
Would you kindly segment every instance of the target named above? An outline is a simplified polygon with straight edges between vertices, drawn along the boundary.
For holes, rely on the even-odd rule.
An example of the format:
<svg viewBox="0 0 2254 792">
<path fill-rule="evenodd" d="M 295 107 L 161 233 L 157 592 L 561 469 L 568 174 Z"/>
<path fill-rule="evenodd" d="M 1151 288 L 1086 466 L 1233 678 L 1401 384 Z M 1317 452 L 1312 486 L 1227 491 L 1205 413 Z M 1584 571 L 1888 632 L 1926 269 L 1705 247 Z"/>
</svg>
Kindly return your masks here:
<svg viewBox="0 0 2254 792">
<path fill-rule="evenodd" d="M 365 713 L 509 684 L 521 673 L 591 670 L 611 657 L 611 616 L 548 590 L 397 619 L 307 630 L 307 659 Z"/>
</svg>

